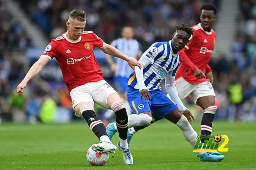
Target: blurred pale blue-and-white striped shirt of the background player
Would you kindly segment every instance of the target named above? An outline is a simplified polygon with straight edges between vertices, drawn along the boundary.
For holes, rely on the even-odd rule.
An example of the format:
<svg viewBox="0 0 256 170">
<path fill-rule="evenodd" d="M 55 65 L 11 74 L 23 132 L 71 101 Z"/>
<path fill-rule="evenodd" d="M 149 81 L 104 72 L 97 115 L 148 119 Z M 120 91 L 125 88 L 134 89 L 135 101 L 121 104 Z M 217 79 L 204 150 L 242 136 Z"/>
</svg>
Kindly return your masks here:
<svg viewBox="0 0 256 170">
<path fill-rule="evenodd" d="M 115 39 L 112 43 L 112 46 L 116 47 L 122 53 L 128 55 L 129 57 L 137 57 L 137 54 L 141 50 L 141 45 L 136 39 L 127 40 L 125 38 Z M 117 64 L 117 71 L 115 76 L 121 76 L 129 78 L 129 75 L 132 73 L 132 68 L 129 67 L 128 63 L 123 59 L 114 58 L 115 63 Z"/>
</svg>

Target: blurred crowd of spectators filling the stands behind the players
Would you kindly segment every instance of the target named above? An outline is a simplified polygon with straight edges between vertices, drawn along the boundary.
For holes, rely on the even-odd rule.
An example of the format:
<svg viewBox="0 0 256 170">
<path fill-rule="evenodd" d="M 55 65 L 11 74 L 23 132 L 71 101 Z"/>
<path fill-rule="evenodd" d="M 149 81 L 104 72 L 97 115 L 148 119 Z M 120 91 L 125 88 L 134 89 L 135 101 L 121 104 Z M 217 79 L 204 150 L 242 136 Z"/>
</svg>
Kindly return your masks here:
<svg viewBox="0 0 256 170">
<path fill-rule="evenodd" d="M 66 31 L 66 20 L 71 10 L 85 10 L 85 30 L 94 31 L 104 42 L 111 43 L 120 36 L 124 25 L 134 27 L 135 39 L 142 51 L 157 41 L 169 41 L 176 25 L 199 23 L 200 7 L 211 2 L 219 8 L 219 0 L 17 0 L 27 17 L 35 22 L 44 36 L 50 39 Z M 229 121 L 256 120 L 256 0 L 240 0 L 236 17 L 236 35 L 230 37 L 231 56 L 214 53 L 210 66 L 214 71 L 214 89 L 218 111 L 216 118 Z M 0 121 L 30 121 L 40 117 L 44 122 L 65 122 L 75 119 L 70 97 L 60 70 L 51 61 L 41 76 L 32 79 L 25 95 L 17 96 L 16 86 L 35 61 L 27 59 L 33 44 L 26 32 L 0 0 Z M 218 16 L 217 13 L 217 17 Z M 218 32 L 216 32 L 218 34 Z M 218 44 L 218 42 L 216 42 Z M 43 52 L 43 49 L 39 49 Z M 15 54 L 23 54 L 23 58 Z M 113 76 L 99 53 L 105 78 L 112 83 Z M 21 55 L 22 56 L 22 55 Z M 40 53 L 39 53 L 40 56 Z M 38 56 L 38 57 L 39 57 Z M 96 54 L 96 58 L 97 58 Z M 103 58 L 103 59 L 102 59 Z M 44 76 L 54 73 L 55 78 Z M 190 99 L 184 101 L 192 113 L 200 113 Z M 98 113 L 104 112 L 98 108 Z M 102 111 L 101 111 L 102 110 Z M 47 115 L 47 116 L 45 116 Z"/>
</svg>

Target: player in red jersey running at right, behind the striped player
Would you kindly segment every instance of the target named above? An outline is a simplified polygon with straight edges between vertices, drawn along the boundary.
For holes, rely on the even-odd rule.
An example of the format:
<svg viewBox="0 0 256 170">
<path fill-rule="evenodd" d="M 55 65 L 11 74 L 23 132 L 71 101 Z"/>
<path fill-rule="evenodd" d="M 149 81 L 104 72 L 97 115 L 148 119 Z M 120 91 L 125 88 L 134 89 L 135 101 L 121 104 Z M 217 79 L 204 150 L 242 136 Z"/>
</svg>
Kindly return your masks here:
<svg viewBox="0 0 256 170">
<path fill-rule="evenodd" d="M 217 9 L 212 4 L 201 6 L 201 22 L 192 26 L 194 31 L 192 39 L 189 43 L 179 51 L 181 64 L 177 70 L 175 77 L 175 87 L 179 97 L 184 99 L 188 95 L 191 96 L 195 104 L 204 109 L 201 120 L 201 135 L 210 136 L 212 131 L 212 123 L 217 106 L 215 106 L 215 94 L 213 86 L 213 74 L 208 65 L 211 54 L 214 51 L 216 34 L 212 30 L 212 24 L 216 20 Z M 155 117 L 152 123 L 159 120 Z M 150 125 L 149 124 L 149 125 Z M 128 143 L 134 133 L 146 126 L 137 126 L 128 129 Z M 201 143 L 209 138 L 201 139 Z M 219 152 L 209 152 L 209 154 L 219 155 Z M 198 155 L 202 161 L 212 161 L 211 159 Z"/>
</svg>

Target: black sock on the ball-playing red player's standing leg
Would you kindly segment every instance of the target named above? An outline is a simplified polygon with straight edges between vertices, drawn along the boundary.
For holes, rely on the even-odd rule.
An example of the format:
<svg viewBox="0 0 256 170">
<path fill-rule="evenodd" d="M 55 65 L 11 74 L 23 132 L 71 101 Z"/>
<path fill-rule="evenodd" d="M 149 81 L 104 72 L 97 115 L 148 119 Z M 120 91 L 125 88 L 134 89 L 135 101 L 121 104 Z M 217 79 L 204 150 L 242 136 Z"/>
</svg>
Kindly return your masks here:
<svg viewBox="0 0 256 170">
<path fill-rule="evenodd" d="M 125 108 L 122 108 L 121 110 L 116 111 L 115 114 L 119 138 L 125 140 L 127 139 L 128 130 L 128 116 L 126 110 Z"/>
</svg>

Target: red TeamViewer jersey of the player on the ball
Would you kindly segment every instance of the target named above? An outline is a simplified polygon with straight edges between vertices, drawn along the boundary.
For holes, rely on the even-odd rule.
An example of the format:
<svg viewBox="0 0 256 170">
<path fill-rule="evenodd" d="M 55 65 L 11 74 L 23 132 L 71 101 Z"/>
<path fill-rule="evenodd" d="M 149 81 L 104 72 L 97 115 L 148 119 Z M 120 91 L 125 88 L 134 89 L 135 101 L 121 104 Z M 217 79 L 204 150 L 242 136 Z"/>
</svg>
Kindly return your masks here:
<svg viewBox="0 0 256 170">
<path fill-rule="evenodd" d="M 68 39 L 65 33 L 52 39 L 41 57 L 56 58 L 70 92 L 77 86 L 103 80 L 103 73 L 92 51 L 93 47 L 103 45 L 102 39 L 92 31 L 84 31 L 75 41 Z"/>
</svg>

